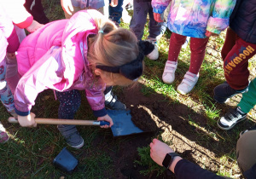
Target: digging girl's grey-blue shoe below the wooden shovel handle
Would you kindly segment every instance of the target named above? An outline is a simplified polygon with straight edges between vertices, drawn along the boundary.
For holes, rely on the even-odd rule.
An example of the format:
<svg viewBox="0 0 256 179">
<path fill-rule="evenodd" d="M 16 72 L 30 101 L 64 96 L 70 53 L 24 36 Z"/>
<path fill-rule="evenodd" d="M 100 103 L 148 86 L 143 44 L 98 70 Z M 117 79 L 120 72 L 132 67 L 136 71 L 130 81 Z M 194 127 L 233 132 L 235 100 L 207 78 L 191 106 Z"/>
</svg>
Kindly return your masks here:
<svg viewBox="0 0 256 179">
<path fill-rule="evenodd" d="M 84 146 L 84 139 L 79 135 L 75 125 L 58 125 L 57 128 L 70 147 L 80 148 Z"/>
</svg>

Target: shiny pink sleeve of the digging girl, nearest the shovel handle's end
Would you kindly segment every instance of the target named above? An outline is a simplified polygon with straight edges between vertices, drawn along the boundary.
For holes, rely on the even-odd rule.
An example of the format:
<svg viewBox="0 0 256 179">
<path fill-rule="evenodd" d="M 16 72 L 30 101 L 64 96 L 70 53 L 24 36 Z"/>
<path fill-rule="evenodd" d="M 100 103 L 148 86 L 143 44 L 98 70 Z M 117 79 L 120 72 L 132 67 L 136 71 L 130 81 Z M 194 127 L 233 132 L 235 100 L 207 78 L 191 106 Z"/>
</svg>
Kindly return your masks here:
<svg viewBox="0 0 256 179">
<path fill-rule="evenodd" d="M 61 63 L 61 48 L 53 47 L 24 74 L 15 90 L 15 111 L 18 115 L 27 115 L 35 104 L 38 93 L 46 89 L 55 89 L 62 82 L 58 76 Z"/>
</svg>

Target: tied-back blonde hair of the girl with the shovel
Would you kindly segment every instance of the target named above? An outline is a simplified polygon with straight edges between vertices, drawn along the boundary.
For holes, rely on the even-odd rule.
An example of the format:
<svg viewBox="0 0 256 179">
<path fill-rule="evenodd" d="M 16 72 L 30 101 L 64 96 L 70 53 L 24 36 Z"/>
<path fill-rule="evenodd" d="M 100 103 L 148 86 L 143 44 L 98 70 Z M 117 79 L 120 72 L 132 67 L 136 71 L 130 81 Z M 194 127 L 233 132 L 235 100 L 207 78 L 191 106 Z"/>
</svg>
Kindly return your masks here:
<svg viewBox="0 0 256 179">
<path fill-rule="evenodd" d="M 88 61 L 94 71 L 100 66 L 122 66 L 137 58 L 139 48 L 137 37 L 129 30 L 117 28 L 110 20 L 94 18 L 98 34 L 88 40 Z M 102 71 L 103 75 L 111 78 L 113 84 L 129 85 L 132 80 L 119 73 Z"/>
</svg>

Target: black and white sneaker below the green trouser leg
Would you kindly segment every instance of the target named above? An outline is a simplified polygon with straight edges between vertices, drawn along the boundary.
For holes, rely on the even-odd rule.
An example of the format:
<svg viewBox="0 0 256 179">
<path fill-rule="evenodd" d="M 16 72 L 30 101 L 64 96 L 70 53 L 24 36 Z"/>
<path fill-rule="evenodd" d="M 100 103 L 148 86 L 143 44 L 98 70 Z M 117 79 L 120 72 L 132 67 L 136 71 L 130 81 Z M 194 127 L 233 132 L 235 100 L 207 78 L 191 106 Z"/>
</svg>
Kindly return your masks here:
<svg viewBox="0 0 256 179">
<path fill-rule="evenodd" d="M 247 118 L 247 113 L 243 113 L 240 107 L 231 109 L 230 112 L 226 113 L 224 117 L 218 119 L 217 125 L 222 130 L 230 130 L 237 123 Z"/>
</svg>

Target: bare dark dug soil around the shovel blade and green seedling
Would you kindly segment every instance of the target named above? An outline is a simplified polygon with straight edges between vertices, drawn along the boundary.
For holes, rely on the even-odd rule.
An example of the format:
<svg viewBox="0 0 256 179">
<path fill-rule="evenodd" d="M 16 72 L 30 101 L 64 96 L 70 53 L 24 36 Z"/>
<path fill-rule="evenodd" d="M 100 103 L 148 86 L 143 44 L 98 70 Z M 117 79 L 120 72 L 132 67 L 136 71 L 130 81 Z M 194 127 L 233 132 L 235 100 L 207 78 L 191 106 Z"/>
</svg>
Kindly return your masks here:
<svg viewBox="0 0 256 179">
<path fill-rule="evenodd" d="M 123 90 L 119 94 L 120 101 L 124 101 L 126 106 L 131 109 L 132 121 L 140 129 L 151 131 L 149 133 L 137 134 L 133 136 L 123 136 L 108 139 L 106 142 L 112 145 L 120 141 L 119 148 L 108 151 L 113 159 L 113 165 L 116 168 L 115 173 L 108 174 L 108 178 L 175 178 L 172 172 L 167 171 L 160 176 L 156 176 L 156 172 L 152 172 L 147 176 L 140 174 L 140 170 L 145 170 L 148 166 L 140 166 L 134 163 L 140 157 L 137 147 L 148 147 L 152 139 L 161 134 L 162 140 L 169 142 L 168 144 L 179 153 L 184 159 L 188 159 L 201 167 L 218 172 L 220 167 L 230 170 L 233 159 L 228 159 L 225 165 L 219 160 L 224 154 L 236 148 L 236 141 L 220 140 L 221 137 L 211 136 L 211 130 L 216 129 L 208 127 L 208 119 L 200 113 L 183 105 L 166 99 L 165 96 L 154 93 L 145 96 L 141 92 L 143 84 Z M 191 124 L 197 124 L 198 127 Z M 246 129 L 250 124 L 241 124 Z M 223 133 L 220 133 L 224 136 Z M 232 135 L 232 134 L 231 134 Z M 235 134 L 234 134 L 235 135 Z M 117 140 L 117 141 L 116 141 Z M 171 143 L 170 143 L 171 141 Z M 97 143 L 97 141 L 96 141 Z M 114 145 L 113 143 L 113 145 Z M 107 144 L 106 144 L 107 145 Z M 115 144 L 116 145 L 116 144 Z M 241 176 L 239 170 L 234 169 L 233 175 Z"/>
</svg>

